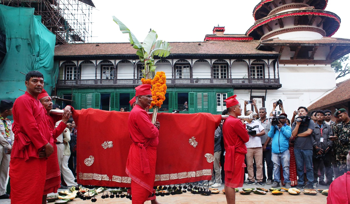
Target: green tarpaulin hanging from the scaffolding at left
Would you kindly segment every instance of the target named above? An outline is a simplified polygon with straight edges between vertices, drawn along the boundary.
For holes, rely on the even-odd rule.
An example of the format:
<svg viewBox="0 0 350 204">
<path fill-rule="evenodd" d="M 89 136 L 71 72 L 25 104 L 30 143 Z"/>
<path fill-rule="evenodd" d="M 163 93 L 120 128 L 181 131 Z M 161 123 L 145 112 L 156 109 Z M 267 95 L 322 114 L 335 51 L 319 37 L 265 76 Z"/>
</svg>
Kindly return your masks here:
<svg viewBox="0 0 350 204">
<path fill-rule="evenodd" d="M 0 5 L 0 31 L 6 34 L 7 50 L 0 64 L 0 100 L 14 101 L 24 94 L 25 75 L 21 72 L 33 70 L 43 73 L 44 89 L 50 94 L 58 76 L 56 36 L 34 16 L 34 8 Z"/>
</svg>

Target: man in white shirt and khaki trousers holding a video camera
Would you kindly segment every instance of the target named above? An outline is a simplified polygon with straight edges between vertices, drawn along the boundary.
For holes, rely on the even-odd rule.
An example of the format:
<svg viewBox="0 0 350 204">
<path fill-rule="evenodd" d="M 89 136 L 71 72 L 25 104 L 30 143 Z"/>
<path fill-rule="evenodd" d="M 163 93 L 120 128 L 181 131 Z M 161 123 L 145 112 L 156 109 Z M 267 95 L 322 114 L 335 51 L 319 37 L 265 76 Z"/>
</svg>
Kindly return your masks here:
<svg viewBox="0 0 350 204">
<path fill-rule="evenodd" d="M 245 115 L 248 116 L 253 111 L 248 110 L 245 112 Z M 249 141 L 245 143 L 247 147 L 247 169 L 248 169 L 248 178 L 249 181 L 246 183 L 247 185 L 251 185 L 255 183 L 254 181 L 254 168 L 253 161 L 255 159 L 255 163 L 257 165 L 257 174 L 256 178 L 258 180 L 258 185 L 265 185 L 262 183 L 262 145 L 260 136 L 265 135 L 265 129 L 262 125 L 255 120 L 248 120 L 245 122 L 245 125 L 249 134 Z"/>
</svg>

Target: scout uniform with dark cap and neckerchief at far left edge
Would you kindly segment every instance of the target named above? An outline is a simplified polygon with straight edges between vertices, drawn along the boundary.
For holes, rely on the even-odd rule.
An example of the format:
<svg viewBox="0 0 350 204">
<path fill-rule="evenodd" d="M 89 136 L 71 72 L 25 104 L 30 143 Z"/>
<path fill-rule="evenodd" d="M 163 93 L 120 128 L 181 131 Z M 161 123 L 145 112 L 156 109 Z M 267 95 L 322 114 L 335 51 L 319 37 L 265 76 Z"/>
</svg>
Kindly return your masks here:
<svg viewBox="0 0 350 204">
<path fill-rule="evenodd" d="M 13 102 L 9 100 L 2 100 L 0 103 L 1 108 L 11 109 L 12 106 Z M 12 132 L 12 123 L 9 119 L 0 116 L 0 195 L 6 194 L 5 184 L 10 164 L 10 155 L 5 152 L 7 152 L 8 148 L 12 147 L 8 143 L 9 139 L 11 140 L 11 144 L 13 144 L 15 138 Z"/>
</svg>

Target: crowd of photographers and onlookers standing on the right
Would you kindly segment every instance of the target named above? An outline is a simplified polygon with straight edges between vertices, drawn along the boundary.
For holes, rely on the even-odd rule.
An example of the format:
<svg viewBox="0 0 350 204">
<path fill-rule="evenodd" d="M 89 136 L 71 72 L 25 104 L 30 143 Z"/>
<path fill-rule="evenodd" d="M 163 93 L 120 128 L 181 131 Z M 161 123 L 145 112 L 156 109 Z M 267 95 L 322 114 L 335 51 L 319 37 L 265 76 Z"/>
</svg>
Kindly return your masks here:
<svg viewBox="0 0 350 204">
<path fill-rule="evenodd" d="M 258 116 L 245 121 L 250 137 L 245 143 L 246 185 L 257 181 L 257 185 L 272 184 L 274 188 L 283 185 L 312 189 L 318 184 L 329 187 L 333 178 L 347 172 L 346 156 L 350 150 L 348 111 L 342 108 L 332 115 L 330 110 L 308 112 L 306 107 L 299 107 L 289 120 L 282 101 L 274 102 L 268 114 L 266 108 L 258 109 L 252 100 L 244 103 L 245 116 L 253 112 L 246 108 L 250 103 Z M 277 107 L 280 111 L 275 111 Z M 228 115 L 227 110 L 222 115 Z M 209 185 L 217 188 L 225 181 L 222 125 L 215 131 L 214 138 L 214 170 Z"/>
</svg>

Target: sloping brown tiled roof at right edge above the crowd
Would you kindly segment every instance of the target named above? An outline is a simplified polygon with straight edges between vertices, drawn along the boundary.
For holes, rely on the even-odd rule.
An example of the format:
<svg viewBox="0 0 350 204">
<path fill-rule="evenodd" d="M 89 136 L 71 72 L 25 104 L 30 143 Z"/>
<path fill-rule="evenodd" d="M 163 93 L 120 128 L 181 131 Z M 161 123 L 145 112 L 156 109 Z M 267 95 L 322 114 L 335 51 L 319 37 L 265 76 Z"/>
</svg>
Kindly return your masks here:
<svg viewBox="0 0 350 204">
<path fill-rule="evenodd" d="M 349 87 L 350 87 L 350 79 L 337 84 L 336 89 L 334 89 L 331 93 L 323 96 L 320 100 L 311 104 L 308 107 L 308 109 L 316 110 L 316 109 L 321 109 L 332 105 L 336 105 L 339 103 L 344 103 L 346 101 L 350 101 Z"/>
</svg>

